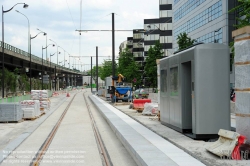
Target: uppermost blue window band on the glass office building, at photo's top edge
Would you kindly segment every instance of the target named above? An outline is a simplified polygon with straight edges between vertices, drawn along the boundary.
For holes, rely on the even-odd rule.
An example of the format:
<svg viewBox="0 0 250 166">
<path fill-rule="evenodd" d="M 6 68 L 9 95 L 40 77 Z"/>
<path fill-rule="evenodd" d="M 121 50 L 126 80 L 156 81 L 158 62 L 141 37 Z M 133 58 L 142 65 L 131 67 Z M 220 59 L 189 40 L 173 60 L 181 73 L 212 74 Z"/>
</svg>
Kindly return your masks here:
<svg viewBox="0 0 250 166">
<path fill-rule="evenodd" d="M 174 21 L 180 20 L 182 17 L 186 16 L 189 12 L 193 11 L 196 7 L 198 7 L 205 1 L 206 0 L 188 0 L 174 12 Z"/>
</svg>

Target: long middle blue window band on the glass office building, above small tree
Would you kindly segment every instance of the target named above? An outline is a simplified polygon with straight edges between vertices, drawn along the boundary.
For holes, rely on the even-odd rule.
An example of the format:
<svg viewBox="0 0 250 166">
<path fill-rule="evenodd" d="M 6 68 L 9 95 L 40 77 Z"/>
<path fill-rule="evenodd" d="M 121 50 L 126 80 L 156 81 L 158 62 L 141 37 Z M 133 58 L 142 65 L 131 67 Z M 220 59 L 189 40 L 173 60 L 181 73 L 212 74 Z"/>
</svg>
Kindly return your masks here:
<svg viewBox="0 0 250 166">
<path fill-rule="evenodd" d="M 214 5 L 210 6 L 203 12 L 199 13 L 192 19 L 188 20 L 178 28 L 174 30 L 174 37 L 177 38 L 177 36 L 182 32 L 192 32 L 205 24 L 209 23 L 210 21 L 213 21 L 220 17 L 222 15 L 222 2 L 221 0 L 215 3 Z"/>
</svg>

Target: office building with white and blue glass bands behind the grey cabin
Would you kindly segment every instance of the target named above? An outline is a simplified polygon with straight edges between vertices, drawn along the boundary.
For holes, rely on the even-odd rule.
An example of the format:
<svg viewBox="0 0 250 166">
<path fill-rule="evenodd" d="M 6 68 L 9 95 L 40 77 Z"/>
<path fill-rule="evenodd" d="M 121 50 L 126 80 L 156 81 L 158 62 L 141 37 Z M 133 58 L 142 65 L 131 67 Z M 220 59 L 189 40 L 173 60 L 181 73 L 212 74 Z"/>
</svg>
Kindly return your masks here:
<svg viewBox="0 0 250 166">
<path fill-rule="evenodd" d="M 232 41 L 235 24 L 235 0 L 174 0 L 173 2 L 173 48 L 178 49 L 177 36 L 186 32 L 197 42 L 224 43 Z"/>
</svg>

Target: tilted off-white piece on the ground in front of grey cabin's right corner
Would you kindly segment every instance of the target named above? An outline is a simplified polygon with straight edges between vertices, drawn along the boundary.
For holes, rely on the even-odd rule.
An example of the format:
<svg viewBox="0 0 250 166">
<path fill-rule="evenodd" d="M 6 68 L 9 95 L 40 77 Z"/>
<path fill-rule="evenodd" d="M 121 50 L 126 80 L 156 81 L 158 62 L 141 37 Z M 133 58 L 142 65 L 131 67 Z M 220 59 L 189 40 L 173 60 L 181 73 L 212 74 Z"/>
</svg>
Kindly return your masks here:
<svg viewBox="0 0 250 166">
<path fill-rule="evenodd" d="M 231 157 L 231 154 L 235 148 L 240 134 L 220 129 L 218 135 L 220 136 L 219 139 L 216 142 L 210 144 L 208 147 L 206 147 L 206 149 L 220 157 Z"/>
</svg>

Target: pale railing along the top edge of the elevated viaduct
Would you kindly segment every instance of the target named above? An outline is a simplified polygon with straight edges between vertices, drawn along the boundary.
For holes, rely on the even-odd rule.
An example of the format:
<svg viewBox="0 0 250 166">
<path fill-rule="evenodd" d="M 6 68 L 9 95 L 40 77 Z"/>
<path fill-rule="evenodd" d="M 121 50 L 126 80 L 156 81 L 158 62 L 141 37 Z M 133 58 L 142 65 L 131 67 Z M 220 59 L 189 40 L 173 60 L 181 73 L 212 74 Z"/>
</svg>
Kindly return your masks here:
<svg viewBox="0 0 250 166">
<path fill-rule="evenodd" d="M 1 41 L 0 42 L 0 47 L 2 47 L 2 46 L 3 46 L 3 42 Z M 19 48 L 16 48 L 16 47 L 12 46 L 12 45 L 9 45 L 7 43 L 4 43 L 4 48 L 6 50 L 10 50 L 10 51 L 13 51 L 15 53 L 18 53 L 18 54 L 20 54 L 20 55 L 22 55 L 24 57 L 30 57 L 30 54 L 28 52 L 23 51 L 23 50 L 21 50 Z M 42 63 L 42 58 L 37 57 L 37 56 L 35 56 L 33 54 L 31 54 L 31 60 L 32 60 L 32 62 L 37 61 L 37 62 Z M 47 64 L 47 65 L 50 65 L 50 61 L 47 61 L 47 60 L 43 60 L 43 63 Z M 69 69 L 69 68 L 64 67 L 64 66 L 57 65 L 57 64 L 55 64 L 53 62 L 51 62 L 51 66 L 56 66 L 57 68 L 68 70 L 68 71 L 71 71 L 71 72 L 76 72 L 76 71 L 74 71 L 72 69 Z M 77 72 L 77 73 L 80 73 L 80 72 Z"/>
</svg>

